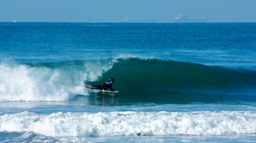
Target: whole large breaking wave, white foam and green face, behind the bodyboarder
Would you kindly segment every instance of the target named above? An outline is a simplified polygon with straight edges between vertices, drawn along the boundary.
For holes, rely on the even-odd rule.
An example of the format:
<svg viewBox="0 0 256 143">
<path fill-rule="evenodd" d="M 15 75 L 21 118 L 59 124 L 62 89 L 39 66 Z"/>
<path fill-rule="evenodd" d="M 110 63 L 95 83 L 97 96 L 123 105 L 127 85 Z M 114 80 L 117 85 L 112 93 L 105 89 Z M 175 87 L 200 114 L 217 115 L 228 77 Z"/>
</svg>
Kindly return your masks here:
<svg viewBox="0 0 256 143">
<path fill-rule="evenodd" d="M 119 100 L 255 101 L 256 72 L 158 59 L 0 64 L 0 101 L 67 101 L 114 77 Z"/>
</svg>

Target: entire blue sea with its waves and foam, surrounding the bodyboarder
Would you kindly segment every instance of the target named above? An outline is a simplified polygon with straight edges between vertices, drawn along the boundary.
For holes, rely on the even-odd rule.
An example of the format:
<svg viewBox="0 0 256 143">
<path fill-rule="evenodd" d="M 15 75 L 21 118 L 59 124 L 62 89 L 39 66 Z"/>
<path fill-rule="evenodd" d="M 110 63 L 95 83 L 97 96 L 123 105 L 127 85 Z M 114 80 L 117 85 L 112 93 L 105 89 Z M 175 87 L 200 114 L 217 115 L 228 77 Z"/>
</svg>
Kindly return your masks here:
<svg viewBox="0 0 256 143">
<path fill-rule="evenodd" d="M 255 140 L 256 23 L 0 22 L 0 143 Z"/>
</svg>

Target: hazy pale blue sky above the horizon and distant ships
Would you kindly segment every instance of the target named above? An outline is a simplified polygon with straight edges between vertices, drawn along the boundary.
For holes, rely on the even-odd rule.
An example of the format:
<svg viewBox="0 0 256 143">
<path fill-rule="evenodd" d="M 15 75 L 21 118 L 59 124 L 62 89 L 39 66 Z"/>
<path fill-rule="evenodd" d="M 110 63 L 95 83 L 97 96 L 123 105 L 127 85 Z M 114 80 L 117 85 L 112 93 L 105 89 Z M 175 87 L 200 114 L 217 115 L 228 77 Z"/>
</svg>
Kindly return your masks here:
<svg viewBox="0 0 256 143">
<path fill-rule="evenodd" d="M 256 22 L 256 0 L 0 0 L 0 22 Z"/>
</svg>

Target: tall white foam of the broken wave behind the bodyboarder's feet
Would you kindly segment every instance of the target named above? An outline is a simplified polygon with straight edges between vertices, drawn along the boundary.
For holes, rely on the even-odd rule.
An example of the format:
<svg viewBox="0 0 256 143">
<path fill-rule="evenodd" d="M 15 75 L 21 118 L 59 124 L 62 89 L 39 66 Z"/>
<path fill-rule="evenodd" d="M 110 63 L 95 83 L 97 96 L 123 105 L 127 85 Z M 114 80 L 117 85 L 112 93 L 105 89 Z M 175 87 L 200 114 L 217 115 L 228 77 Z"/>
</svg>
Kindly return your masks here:
<svg viewBox="0 0 256 143">
<path fill-rule="evenodd" d="M 0 102 L 67 101 L 88 94 L 83 78 L 59 69 L 0 64 Z"/>
</svg>

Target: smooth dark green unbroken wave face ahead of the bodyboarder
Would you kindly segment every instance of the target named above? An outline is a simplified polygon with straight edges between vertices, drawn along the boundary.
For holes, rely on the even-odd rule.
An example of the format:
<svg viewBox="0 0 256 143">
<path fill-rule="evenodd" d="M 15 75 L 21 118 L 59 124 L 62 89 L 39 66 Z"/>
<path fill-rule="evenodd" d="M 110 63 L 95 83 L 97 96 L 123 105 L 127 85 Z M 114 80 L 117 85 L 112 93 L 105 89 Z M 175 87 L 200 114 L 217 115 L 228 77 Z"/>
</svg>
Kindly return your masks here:
<svg viewBox="0 0 256 143">
<path fill-rule="evenodd" d="M 256 99 L 256 72 L 250 70 L 131 58 L 114 64 L 93 84 L 109 77 L 116 79 L 113 87 L 120 91 L 120 98 L 196 102 Z"/>
</svg>

